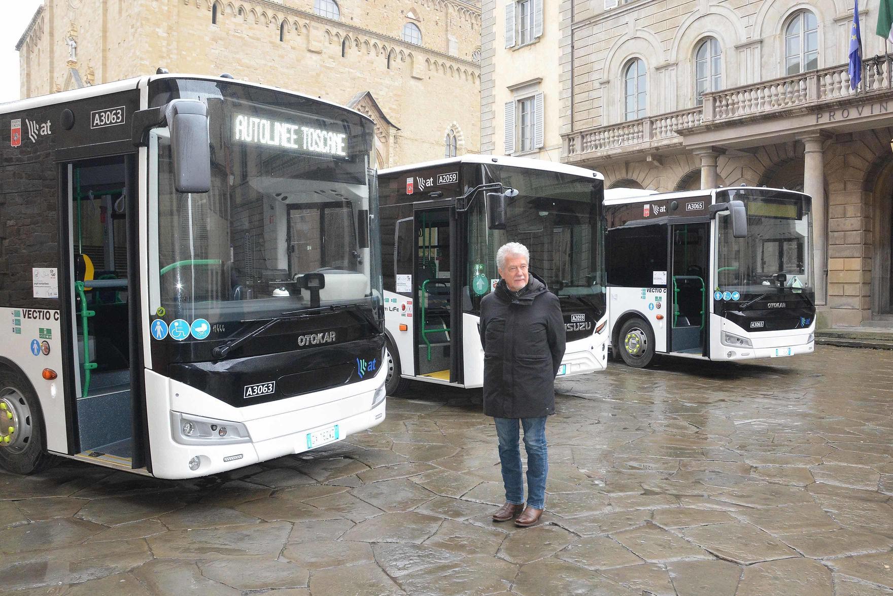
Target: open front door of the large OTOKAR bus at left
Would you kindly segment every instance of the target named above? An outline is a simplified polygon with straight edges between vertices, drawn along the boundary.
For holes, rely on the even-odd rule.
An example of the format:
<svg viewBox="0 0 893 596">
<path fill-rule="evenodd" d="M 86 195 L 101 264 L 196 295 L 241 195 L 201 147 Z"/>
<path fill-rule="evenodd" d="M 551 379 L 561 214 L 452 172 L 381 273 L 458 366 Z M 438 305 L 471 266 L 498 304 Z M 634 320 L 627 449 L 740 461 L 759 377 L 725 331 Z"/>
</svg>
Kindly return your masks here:
<svg viewBox="0 0 893 596">
<path fill-rule="evenodd" d="M 59 295 L 67 300 L 74 373 L 66 385 L 70 451 L 126 469 L 145 465 L 143 408 L 135 405 L 142 401 L 131 384 L 142 345 L 134 162 L 121 155 L 62 165 L 69 266 Z"/>
</svg>

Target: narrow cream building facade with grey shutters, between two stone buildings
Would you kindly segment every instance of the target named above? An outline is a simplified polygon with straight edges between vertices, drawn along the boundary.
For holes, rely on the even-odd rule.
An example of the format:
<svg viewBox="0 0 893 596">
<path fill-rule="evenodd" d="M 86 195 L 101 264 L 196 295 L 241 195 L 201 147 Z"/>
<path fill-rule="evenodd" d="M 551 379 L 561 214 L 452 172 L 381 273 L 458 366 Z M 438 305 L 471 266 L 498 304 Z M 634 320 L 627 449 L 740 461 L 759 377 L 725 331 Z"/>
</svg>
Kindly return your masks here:
<svg viewBox="0 0 893 596">
<path fill-rule="evenodd" d="M 483 0 L 482 153 L 561 160 L 558 8 L 549 0 Z"/>
</svg>

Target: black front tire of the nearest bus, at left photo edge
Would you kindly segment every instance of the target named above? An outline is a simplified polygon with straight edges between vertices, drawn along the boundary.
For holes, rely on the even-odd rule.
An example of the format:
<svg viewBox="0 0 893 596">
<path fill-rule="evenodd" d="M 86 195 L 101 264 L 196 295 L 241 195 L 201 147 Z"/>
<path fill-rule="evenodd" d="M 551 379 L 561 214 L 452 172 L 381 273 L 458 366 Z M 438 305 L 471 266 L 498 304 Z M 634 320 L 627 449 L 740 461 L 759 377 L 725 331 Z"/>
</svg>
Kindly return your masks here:
<svg viewBox="0 0 893 596">
<path fill-rule="evenodd" d="M 33 474 L 57 461 L 46 452 L 44 415 L 34 388 L 21 374 L 0 368 L 0 466 Z"/>
</svg>

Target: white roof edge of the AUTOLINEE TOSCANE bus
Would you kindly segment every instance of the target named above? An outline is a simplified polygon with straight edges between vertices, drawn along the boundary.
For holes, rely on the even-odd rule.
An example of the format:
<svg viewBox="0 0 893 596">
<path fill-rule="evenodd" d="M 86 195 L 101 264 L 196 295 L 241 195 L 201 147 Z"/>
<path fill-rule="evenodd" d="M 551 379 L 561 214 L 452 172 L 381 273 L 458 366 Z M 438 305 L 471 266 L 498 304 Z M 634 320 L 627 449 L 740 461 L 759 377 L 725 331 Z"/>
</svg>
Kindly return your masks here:
<svg viewBox="0 0 893 596">
<path fill-rule="evenodd" d="M 305 95 L 302 93 L 296 93 L 295 91 L 289 91 L 288 89 L 283 89 L 281 87 L 271 87 L 269 85 L 261 85 L 260 83 L 251 83 L 246 80 L 239 79 L 229 79 L 224 77 L 212 77 L 209 75 L 194 75 L 194 74 L 160 74 L 160 75 L 146 75 L 143 77 L 133 77 L 131 79 L 121 79 L 112 81 L 110 83 L 101 83 L 100 85 L 94 85 L 90 87 L 81 87 L 79 89 L 71 89 L 71 91 L 60 91 L 59 93 L 51 93 L 47 95 L 38 95 L 37 97 L 28 97 L 26 99 L 20 99 L 13 102 L 0 103 L 0 114 L 9 113 L 9 112 L 21 112 L 22 110 L 31 110 L 34 108 L 41 108 L 46 105 L 54 105 L 55 103 L 65 103 L 65 102 L 73 102 L 79 99 L 86 99 L 88 97 L 97 97 L 99 95 L 108 95 L 112 93 L 117 93 L 119 91 L 129 91 L 132 89 L 138 89 L 146 87 L 150 82 L 158 79 L 194 79 L 194 80 L 213 80 L 213 81 L 223 81 L 227 83 L 236 83 L 238 85 L 247 85 L 250 87 L 259 87 L 262 89 L 270 89 L 271 91 L 278 91 L 280 93 L 287 93 L 288 95 L 297 95 L 298 97 L 304 97 L 305 99 L 310 99 L 313 102 L 317 103 L 328 103 L 329 105 L 334 105 L 338 108 L 346 110 L 347 112 L 354 112 L 357 116 L 362 116 L 366 120 L 370 120 L 369 116 L 366 116 L 362 112 L 357 112 L 351 108 L 348 108 L 340 103 L 330 102 L 325 99 L 321 99 L 319 97 L 313 97 L 312 95 Z"/>
</svg>

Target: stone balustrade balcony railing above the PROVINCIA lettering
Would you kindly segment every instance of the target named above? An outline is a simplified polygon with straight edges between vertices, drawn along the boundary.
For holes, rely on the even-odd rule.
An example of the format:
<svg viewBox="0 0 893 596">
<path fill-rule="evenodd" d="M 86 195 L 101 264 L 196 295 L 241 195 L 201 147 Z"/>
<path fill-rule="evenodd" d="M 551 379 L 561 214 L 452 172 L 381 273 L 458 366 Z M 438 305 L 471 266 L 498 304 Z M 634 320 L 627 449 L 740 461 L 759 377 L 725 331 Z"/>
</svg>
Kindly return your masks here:
<svg viewBox="0 0 893 596">
<path fill-rule="evenodd" d="M 649 152 L 681 145 L 677 133 L 701 124 L 725 124 L 753 117 L 780 116 L 820 103 L 833 103 L 855 96 L 889 92 L 891 56 L 864 62 L 862 83 L 849 87 L 848 64 L 811 70 L 791 77 L 762 81 L 704 94 L 704 105 L 689 110 L 588 128 L 564 135 L 564 155 L 571 161 L 583 153 L 599 154 L 622 149 Z M 589 157 L 586 155 L 585 157 Z"/>
</svg>

